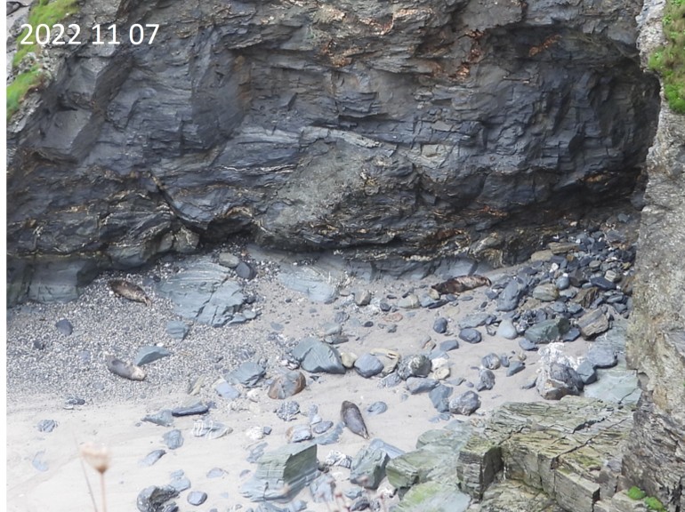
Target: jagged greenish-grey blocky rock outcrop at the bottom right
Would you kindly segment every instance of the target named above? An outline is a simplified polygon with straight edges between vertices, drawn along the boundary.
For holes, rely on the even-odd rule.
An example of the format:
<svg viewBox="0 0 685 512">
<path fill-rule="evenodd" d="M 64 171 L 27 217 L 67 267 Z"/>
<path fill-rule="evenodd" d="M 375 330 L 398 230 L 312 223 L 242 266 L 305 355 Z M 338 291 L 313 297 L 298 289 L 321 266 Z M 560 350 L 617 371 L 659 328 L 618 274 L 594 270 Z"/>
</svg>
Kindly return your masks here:
<svg viewBox="0 0 685 512">
<path fill-rule="evenodd" d="M 436 502 L 445 493 L 454 500 L 455 489 L 471 496 L 473 511 L 594 512 L 614 502 L 617 455 L 632 425 L 630 408 L 578 396 L 504 404 L 484 424 L 425 433 L 387 473 L 400 492 L 422 489 L 421 500 L 403 501 L 403 512 L 465 510 Z"/>
</svg>

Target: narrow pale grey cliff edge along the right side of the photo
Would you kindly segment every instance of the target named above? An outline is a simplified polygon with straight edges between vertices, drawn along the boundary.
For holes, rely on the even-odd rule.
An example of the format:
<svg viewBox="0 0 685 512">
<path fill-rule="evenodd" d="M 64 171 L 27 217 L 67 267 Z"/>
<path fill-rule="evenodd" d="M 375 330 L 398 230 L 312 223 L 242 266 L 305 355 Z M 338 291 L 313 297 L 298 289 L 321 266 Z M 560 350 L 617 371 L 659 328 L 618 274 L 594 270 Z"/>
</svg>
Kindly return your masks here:
<svg viewBox="0 0 685 512">
<path fill-rule="evenodd" d="M 645 58 L 662 44 L 663 6 L 645 4 Z M 624 465 L 631 482 L 669 510 L 685 510 L 685 116 L 665 104 L 648 170 L 627 346 L 645 392 Z"/>
</svg>

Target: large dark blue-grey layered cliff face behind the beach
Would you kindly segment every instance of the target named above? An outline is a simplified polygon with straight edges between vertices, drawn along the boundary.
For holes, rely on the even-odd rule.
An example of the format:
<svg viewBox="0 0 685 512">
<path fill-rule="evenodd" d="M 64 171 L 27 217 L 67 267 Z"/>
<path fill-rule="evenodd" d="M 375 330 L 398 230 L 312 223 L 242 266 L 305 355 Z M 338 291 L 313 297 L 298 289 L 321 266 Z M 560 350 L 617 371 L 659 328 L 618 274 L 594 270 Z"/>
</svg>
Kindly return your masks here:
<svg viewBox="0 0 685 512">
<path fill-rule="evenodd" d="M 513 226 L 634 186 L 658 111 L 639 11 L 87 0 L 84 34 L 160 28 L 153 44 L 44 52 L 52 84 L 11 124 L 11 299 L 69 299 L 99 268 L 239 231 L 366 257 L 516 258 L 538 233 Z"/>
</svg>

